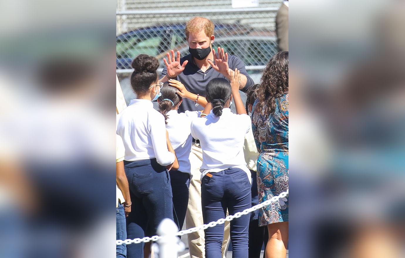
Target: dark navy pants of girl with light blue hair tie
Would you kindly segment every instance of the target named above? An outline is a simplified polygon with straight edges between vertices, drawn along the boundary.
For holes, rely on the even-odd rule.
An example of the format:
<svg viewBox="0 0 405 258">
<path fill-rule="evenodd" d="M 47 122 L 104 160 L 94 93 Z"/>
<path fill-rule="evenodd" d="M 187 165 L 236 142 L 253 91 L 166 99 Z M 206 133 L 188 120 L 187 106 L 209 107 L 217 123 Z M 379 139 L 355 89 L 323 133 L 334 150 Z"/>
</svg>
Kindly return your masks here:
<svg viewBox="0 0 405 258">
<path fill-rule="evenodd" d="M 170 171 L 169 173 L 173 193 L 173 217 L 179 230 L 181 230 L 181 228 L 183 228 L 188 205 L 190 174 L 180 171 Z"/>
</svg>

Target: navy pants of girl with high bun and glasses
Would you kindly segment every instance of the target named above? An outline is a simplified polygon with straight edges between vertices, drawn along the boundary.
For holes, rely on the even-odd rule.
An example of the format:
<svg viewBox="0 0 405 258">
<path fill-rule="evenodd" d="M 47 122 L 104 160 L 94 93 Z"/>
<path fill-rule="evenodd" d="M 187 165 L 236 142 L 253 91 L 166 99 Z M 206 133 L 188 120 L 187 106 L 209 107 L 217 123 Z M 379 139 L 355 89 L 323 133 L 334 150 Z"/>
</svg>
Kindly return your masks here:
<svg viewBox="0 0 405 258">
<path fill-rule="evenodd" d="M 145 237 L 150 229 L 156 235 L 159 223 L 164 218 L 173 220 L 173 202 L 170 176 L 166 167 L 156 159 L 124 161 L 132 201 L 127 217 L 127 237 Z M 143 257 L 143 243 L 127 245 L 127 257 Z"/>
</svg>

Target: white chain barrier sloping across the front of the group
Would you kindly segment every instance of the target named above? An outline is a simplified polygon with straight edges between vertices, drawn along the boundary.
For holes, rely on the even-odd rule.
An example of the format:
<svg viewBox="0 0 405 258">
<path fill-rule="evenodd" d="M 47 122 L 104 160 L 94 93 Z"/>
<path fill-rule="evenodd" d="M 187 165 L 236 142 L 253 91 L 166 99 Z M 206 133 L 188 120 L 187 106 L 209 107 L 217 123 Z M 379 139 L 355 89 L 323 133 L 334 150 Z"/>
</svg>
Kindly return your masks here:
<svg viewBox="0 0 405 258">
<path fill-rule="evenodd" d="M 231 221 L 234 218 L 239 218 L 242 215 L 247 215 L 250 212 L 255 211 L 256 209 L 260 209 L 260 208 L 262 208 L 262 207 L 264 207 L 266 205 L 269 205 L 271 203 L 274 203 L 274 202 L 278 201 L 280 198 L 287 197 L 287 196 L 288 196 L 288 189 L 285 192 L 282 192 L 281 194 L 279 194 L 278 196 L 275 196 L 275 197 L 273 197 L 273 198 L 271 198 L 271 199 L 269 199 L 267 201 L 259 203 L 258 205 L 255 205 L 255 206 L 253 206 L 253 207 L 251 207 L 249 209 L 245 209 L 244 211 L 239 211 L 239 212 L 235 213 L 234 215 L 229 215 L 226 218 L 220 218 L 219 220 L 209 222 L 208 224 L 203 224 L 201 226 L 196 226 L 194 228 L 189 228 L 189 229 L 179 231 L 179 232 L 177 232 L 175 234 L 175 236 L 187 235 L 187 234 L 190 234 L 190 233 L 193 233 L 193 232 L 197 232 L 197 231 L 199 231 L 201 229 L 212 228 L 212 227 L 214 227 L 214 226 L 216 226 L 218 224 L 225 223 L 225 221 Z M 129 245 L 129 244 L 132 244 L 132 243 L 139 244 L 139 243 L 147 243 L 149 241 L 158 241 L 161 238 L 162 238 L 161 236 L 153 236 L 153 237 L 144 237 L 144 238 L 135 238 L 135 239 L 125 239 L 125 240 L 117 240 L 116 243 L 117 243 L 117 245 L 122 245 L 122 244 Z"/>
</svg>

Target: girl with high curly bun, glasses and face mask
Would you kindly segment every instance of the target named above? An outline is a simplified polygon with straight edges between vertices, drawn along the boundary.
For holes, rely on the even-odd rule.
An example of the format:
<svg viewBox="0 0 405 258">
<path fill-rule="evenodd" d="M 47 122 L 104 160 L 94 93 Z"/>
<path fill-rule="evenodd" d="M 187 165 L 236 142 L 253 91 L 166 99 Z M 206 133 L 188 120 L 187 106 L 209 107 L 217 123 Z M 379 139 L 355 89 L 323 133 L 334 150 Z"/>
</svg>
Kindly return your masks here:
<svg viewBox="0 0 405 258">
<path fill-rule="evenodd" d="M 127 217 L 127 237 L 153 235 L 164 218 L 173 220 L 173 203 L 168 169 L 178 168 L 174 150 L 166 137 L 164 116 L 153 109 L 151 101 L 160 96 L 158 60 L 139 55 L 132 61 L 131 86 L 136 93 L 121 112 L 117 134 L 125 147 L 124 169 L 132 204 Z M 170 150 L 170 151 L 169 151 Z M 173 165 L 174 164 L 174 165 Z M 144 244 L 127 245 L 127 257 L 144 257 Z"/>
</svg>

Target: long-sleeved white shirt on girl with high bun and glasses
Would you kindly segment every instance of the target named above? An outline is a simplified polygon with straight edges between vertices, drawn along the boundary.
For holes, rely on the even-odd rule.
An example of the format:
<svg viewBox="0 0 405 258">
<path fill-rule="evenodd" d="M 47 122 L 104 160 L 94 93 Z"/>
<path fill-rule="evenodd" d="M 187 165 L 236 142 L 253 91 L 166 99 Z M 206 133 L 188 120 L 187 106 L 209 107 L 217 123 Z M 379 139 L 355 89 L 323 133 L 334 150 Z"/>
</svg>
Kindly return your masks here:
<svg viewBox="0 0 405 258">
<path fill-rule="evenodd" d="M 117 134 L 124 142 L 126 161 L 156 158 L 167 166 L 175 160 L 167 149 L 164 116 L 153 109 L 150 100 L 131 100 L 119 116 Z"/>
</svg>

